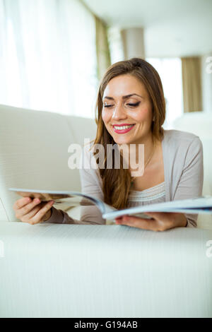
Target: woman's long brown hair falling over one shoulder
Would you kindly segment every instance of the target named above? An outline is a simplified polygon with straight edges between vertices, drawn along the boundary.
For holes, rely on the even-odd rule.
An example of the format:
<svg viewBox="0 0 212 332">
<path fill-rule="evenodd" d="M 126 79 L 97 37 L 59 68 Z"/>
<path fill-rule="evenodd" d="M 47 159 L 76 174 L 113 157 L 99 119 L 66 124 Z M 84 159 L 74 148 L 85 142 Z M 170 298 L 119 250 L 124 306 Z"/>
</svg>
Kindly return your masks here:
<svg viewBox="0 0 212 332">
<path fill-rule="evenodd" d="M 112 78 L 130 74 L 135 76 L 148 91 L 152 106 L 153 119 L 151 130 L 153 138 L 161 140 L 163 138 L 163 122 L 165 121 L 165 97 L 163 86 L 160 81 L 158 72 L 147 61 L 140 58 L 133 58 L 126 61 L 119 61 L 110 66 L 98 90 L 98 98 L 96 103 L 95 121 L 98 125 L 95 144 L 102 144 L 105 148 L 105 168 L 99 168 L 100 177 L 102 178 L 102 190 L 105 203 L 114 208 L 126 208 L 127 198 L 131 187 L 131 174 L 129 170 L 123 168 L 123 158 L 121 155 L 121 166 L 117 170 L 115 168 L 107 169 L 107 144 L 115 144 L 114 139 L 108 133 L 104 122 L 102 121 L 102 97 L 107 84 Z"/>
</svg>

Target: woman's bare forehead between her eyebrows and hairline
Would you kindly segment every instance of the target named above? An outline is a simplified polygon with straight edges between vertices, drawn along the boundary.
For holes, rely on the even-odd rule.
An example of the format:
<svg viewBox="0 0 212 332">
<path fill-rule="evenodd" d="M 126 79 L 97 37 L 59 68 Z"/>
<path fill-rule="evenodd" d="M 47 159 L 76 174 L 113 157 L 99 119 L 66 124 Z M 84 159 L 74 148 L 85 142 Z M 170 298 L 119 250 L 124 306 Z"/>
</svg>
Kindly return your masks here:
<svg viewBox="0 0 212 332">
<path fill-rule="evenodd" d="M 138 78 L 131 75 L 122 75 L 112 78 L 107 84 L 103 98 L 109 97 L 122 97 L 123 95 L 130 95 L 131 93 L 137 93 L 144 95 L 146 88 Z"/>
</svg>

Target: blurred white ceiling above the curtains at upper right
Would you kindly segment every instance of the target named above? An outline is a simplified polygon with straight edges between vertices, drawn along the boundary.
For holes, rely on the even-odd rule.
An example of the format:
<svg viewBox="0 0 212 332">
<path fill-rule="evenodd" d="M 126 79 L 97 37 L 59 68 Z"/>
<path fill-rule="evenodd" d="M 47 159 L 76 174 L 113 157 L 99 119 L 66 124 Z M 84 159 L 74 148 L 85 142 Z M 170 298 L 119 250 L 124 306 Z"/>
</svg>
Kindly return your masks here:
<svg viewBox="0 0 212 332">
<path fill-rule="evenodd" d="M 212 0 L 83 0 L 109 26 L 143 27 L 146 57 L 212 52 Z"/>
</svg>

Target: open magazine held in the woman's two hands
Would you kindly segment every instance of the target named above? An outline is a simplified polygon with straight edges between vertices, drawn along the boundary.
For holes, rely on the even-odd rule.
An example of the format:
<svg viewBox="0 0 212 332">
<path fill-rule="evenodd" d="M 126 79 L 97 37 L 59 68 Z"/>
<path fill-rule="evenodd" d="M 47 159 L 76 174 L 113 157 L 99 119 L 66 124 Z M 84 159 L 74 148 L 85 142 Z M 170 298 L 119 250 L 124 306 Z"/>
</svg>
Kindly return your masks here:
<svg viewBox="0 0 212 332">
<path fill-rule="evenodd" d="M 140 218 L 151 219 L 146 212 L 178 212 L 178 213 L 212 213 L 212 196 L 189 198 L 180 201 L 168 201 L 165 203 L 155 203 L 148 206 L 135 206 L 117 210 L 112 206 L 100 201 L 93 196 L 82 194 L 77 191 L 49 191 L 9 188 L 23 197 L 40 198 L 41 201 L 54 200 L 55 206 L 63 209 L 74 206 L 97 206 L 102 213 L 102 218 L 114 220 L 122 215 L 134 215 Z"/>
</svg>

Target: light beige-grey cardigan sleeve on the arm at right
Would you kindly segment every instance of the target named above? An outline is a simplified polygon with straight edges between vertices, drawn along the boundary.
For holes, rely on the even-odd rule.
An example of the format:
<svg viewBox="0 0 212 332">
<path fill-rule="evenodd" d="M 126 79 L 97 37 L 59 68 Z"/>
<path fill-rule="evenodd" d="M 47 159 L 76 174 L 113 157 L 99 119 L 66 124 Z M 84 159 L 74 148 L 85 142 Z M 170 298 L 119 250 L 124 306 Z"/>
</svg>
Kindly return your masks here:
<svg viewBox="0 0 212 332">
<path fill-rule="evenodd" d="M 182 170 L 173 200 L 202 196 L 204 181 L 203 146 L 195 136 L 187 148 Z M 196 227 L 197 214 L 185 214 L 187 227 Z"/>
</svg>

